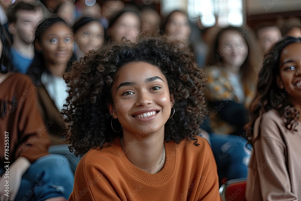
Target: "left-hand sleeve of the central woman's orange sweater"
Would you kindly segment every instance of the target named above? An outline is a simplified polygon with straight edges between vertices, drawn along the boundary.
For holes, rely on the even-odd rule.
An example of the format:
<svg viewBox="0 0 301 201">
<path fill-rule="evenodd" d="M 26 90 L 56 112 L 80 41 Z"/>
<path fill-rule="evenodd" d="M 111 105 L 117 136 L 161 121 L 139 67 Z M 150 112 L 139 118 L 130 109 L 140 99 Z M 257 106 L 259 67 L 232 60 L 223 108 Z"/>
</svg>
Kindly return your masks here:
<svg viewBox="0 0 301 201">
<path fill-rule="evenodd" d="M 95 165 L 95 161 L 88 161 L 86 155 L 76 168 L 73 191 L 68 201 L 120 201 L 107 176 Z"/>
</svg>

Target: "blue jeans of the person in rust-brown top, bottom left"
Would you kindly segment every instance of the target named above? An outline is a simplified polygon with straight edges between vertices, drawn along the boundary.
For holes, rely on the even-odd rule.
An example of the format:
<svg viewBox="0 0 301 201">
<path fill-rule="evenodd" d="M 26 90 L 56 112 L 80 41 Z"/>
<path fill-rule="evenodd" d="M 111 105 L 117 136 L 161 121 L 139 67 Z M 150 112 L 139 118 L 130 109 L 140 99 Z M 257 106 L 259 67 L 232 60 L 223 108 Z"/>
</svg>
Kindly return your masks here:
<svg viewBox="0 0 301 201">
<path fill-rule="evenodd" d="M 73 190 L 74 174 L 66 157 L 48 154 L 31 164 L 23 174 L 16 201 L 40 201 L 51 197 L 68 199 Z"/>
</svg>

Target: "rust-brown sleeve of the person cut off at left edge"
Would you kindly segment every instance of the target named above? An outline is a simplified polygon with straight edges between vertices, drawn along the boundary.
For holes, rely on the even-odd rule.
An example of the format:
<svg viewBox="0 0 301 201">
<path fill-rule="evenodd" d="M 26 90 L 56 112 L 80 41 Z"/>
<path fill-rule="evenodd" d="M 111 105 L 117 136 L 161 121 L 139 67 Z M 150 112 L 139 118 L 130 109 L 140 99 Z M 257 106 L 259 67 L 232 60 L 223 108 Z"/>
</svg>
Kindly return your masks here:
<svg viewBox="0 0 301 201">
<path fill-rule="evenodd" d="M 29 78 L 23 83 L 24 93 L 20 101 L 24 102 L 19 114 L 18 130 L 19 145 L 15 158 L 25 157 L 34 162 L 41 156 L 48 154 L 50 144 L 44 122 L 37 109 L 36 90 Z"/>
</svg>

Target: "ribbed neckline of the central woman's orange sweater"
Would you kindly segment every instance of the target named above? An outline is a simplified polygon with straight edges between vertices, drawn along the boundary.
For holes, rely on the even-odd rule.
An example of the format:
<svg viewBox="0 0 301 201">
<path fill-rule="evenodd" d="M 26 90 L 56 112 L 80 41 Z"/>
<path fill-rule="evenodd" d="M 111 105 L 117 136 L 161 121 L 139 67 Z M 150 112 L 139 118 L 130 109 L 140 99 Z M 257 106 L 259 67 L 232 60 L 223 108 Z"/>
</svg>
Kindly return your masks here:
<svg viewBox="0 0 301 201">
<path fill-rule="evenodd" d="M 126 171 L 135 179 L 149 185 L 160 185 L 165 183 L 172 176 L 175 169 L 175 159 L 176 159 L 176 149 L 175 143 L 169 141 L 166 143 L 164 141 L 166 158 L 163 168 L 156 174 L 150 174 L 144 170 L 133 165 L 129 159 L 126 157 L 126 154 L 123 151 L 123 148 L 120 144 L 120 137 L 116 137 L 112 143 L 112 149 L 117 152 L 119 159 L 126 169 Z"/>
</svg>

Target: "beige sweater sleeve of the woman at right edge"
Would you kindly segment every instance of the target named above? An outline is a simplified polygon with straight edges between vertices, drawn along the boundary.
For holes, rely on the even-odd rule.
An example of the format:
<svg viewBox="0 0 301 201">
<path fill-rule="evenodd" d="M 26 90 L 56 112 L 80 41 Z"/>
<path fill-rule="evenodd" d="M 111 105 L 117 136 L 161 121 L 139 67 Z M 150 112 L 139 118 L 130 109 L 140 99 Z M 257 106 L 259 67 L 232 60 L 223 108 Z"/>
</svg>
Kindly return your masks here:
<svg viewBox="0 0 301 201">
<path fill-rule="evenodd" d="M 264 201 L 297 200 L 291 192 L 281 130 L 271 118 L 262 118 L 261 137 L 255 142 L 257 171 Z"/>
</svg>

